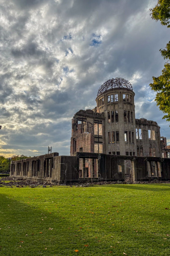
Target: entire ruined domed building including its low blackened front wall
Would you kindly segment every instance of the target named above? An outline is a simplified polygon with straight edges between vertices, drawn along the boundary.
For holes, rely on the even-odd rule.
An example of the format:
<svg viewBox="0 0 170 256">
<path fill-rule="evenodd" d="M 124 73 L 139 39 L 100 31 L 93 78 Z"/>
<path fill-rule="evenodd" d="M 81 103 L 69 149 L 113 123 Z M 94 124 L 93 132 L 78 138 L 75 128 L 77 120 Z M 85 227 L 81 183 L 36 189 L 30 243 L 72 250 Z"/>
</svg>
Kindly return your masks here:
<svg viewBox="0 0 170 256">
<path fill-rule="evenodd" d="M 132 85 L 115 78 L 98 91 L 94 109 L 72 119 L 70 156 L 49 153 L 11 162 L 10 176 L 52 184 L 170 179 L 170 146 L 160 127 L 135 119 Z"/>
</svg>

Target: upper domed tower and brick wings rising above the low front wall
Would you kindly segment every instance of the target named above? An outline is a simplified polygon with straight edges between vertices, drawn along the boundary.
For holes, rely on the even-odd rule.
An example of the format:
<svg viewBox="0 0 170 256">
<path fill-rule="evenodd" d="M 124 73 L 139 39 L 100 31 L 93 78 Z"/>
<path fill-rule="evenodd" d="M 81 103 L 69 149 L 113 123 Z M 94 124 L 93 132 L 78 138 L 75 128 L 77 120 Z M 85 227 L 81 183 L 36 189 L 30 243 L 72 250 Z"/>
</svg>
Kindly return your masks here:
<svg viewBox="0 0 170 256">
<path fill-rule="evenodd" d="M 123 78 L 110 79 L 98 91 L 93 110 L 80 110 L 72 119 L 70 154 L 104 153 L 162 157 L 160 127 L 135 119 L 135 93 Z"/>
</svg>

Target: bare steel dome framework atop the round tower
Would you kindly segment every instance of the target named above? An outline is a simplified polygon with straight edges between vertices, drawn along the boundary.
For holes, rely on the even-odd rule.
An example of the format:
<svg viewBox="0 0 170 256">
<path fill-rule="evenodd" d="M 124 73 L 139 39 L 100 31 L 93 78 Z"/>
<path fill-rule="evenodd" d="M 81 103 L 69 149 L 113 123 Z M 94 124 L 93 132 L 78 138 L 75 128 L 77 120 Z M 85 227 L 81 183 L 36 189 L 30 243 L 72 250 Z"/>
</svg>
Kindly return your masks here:
<svg viewBox="0 0 170 256">
<path fill-rule="evenodd" d="M 123 78 L 112 78 L 103 83 L 97 93 L 97 97 L 102 93 L 106 92 L 108 90 L 111 90 L 113 88 L 127 88 L 133 91 L 132 84 L 129 83 L 129 81 L 123 79 Z"/>
</svg>

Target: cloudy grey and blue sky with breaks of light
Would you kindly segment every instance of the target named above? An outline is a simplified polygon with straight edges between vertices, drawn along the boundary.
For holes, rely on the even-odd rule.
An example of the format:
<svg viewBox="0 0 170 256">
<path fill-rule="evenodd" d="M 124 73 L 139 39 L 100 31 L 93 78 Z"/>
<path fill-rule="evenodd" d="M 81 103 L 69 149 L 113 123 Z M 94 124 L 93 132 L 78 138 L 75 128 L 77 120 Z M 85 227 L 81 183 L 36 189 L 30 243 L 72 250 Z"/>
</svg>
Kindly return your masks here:
<svg viewBox="0 0 170 256">
<path fill-rule="evenodd" d="M 149 16 L 157 0 L 0 0 L 0 154 L 70 154 L 71 119 L 93 109 L 105 81 L 123 77 L 136 118 L 169 124 L 149 83 L 169 30 Z"/>
</svg>

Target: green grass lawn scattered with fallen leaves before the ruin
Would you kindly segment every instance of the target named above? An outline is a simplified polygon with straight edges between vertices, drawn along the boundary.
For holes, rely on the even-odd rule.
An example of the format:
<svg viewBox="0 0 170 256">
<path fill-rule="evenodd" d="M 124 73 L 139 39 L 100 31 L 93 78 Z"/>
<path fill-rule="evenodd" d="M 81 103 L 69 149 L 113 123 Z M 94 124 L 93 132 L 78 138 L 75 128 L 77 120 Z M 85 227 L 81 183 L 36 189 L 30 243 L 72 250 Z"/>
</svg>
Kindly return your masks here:
<svg viewBox="0 0 170 256">
<path fill-rule="evenodd" d="M 0 255 L 169 255 L 169 189 L 0 187 Z"/>
</svg>

